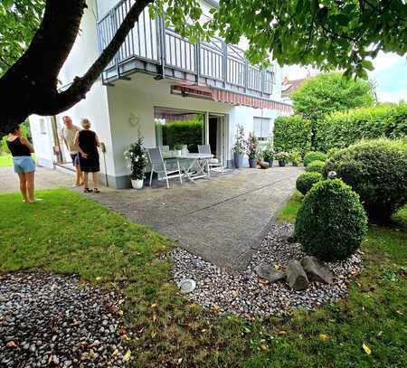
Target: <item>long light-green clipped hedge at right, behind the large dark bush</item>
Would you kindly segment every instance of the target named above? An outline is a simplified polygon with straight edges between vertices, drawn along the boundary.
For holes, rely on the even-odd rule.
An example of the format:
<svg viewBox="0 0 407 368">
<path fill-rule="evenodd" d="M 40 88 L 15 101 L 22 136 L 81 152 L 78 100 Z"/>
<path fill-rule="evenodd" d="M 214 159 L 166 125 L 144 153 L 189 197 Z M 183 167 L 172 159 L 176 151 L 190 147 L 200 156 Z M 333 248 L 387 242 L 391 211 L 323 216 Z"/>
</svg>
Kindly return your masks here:
<svg viewBox="0 0 407 368">
<path fill-rule="evenodd" d="M 304 133 L 305 134 L 305 133 Z M 327 152 L 364 139 L 407 135 L 407 103 L 336 112 L 316 123 L 315 149 Z"/>
</svg>

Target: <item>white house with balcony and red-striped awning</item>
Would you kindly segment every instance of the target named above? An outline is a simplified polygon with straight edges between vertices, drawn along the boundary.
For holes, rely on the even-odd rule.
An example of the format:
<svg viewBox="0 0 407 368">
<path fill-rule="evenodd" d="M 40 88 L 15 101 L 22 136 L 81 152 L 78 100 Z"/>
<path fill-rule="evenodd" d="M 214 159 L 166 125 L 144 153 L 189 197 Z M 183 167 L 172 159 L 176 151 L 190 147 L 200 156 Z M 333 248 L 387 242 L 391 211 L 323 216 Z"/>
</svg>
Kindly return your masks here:
<svg viewBox="0 0 407 368">
<path fill-rule="evenodd" d="M 109 43 L 134 0 L 90 0 L 80 34 L 62 68 L 61 89 L 83 74 Z M 204 16 L 216 2 L 202 0 Z M 243 47 L 243 48 L 242 48 Z M 219 38 L 193 44 L 152 20 L 148 11 L 114 60 L 83 99 L 55 117 L 30 117 L 39 165 L 69 167 L 63 146 L 62 117 L 74 124 L 89 118 L 105 150 L 100 154 L 102 173 L 110 186 L 130 186 L 123 152 L 137 138 L 147 147 L 210 144 L 224 166 L 232 167 L 232 145 L 238 124 L 246 134 L 254 131 L 267 140 L 274 119 L 289 115 L 280 101 L 281 71 L 277 62 L 260 70 L 245 58 L 244 43 L 226 44 Z"/>
</svg>

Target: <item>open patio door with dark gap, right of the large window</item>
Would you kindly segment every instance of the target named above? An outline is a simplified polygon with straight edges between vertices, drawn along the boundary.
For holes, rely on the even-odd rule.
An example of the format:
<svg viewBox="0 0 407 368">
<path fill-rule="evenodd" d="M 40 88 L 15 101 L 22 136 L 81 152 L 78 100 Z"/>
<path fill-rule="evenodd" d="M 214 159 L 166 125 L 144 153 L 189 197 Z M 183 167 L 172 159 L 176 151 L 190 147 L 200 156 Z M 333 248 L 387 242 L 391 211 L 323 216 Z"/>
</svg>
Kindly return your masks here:
<svg viewBox="0 0 407 368">
<path fill-rule="evenodd" d="M 206 120 L 206 144 L 211 146 L 213 156 L 226 166 L 226 118 L 224 115 L 208 114 Z"/>
</svg>

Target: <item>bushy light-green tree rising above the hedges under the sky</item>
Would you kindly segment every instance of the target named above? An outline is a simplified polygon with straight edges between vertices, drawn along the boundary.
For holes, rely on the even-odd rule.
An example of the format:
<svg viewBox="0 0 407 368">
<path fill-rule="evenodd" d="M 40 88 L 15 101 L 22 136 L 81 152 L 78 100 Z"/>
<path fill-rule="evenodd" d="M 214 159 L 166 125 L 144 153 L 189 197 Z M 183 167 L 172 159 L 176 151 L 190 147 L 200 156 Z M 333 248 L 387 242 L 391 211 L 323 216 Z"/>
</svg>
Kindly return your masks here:
<svg viewBox="0 0 407 368">
<path fill-rule="evenodd" d="M 291 99 L 296 114 L 315 121 L 332 112 L 372 106 L 374 93 L 370 82 L 345 79 L 336 72 L 307 80 Z"/>
</svg>

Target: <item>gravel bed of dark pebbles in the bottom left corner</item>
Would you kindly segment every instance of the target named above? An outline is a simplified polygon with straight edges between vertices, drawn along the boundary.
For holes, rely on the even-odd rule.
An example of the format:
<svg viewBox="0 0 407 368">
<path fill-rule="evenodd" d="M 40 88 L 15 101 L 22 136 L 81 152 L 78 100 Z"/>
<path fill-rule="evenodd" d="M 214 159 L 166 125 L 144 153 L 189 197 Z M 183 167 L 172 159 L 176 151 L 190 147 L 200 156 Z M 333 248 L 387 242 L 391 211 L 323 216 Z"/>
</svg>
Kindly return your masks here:
<svg viewBox="0 0 407 368">
<path fill-rule="evenodd" d="M 124 366 L 118 303 L 75 276 L 0 275 L 0 366 Z"/>
</svg>

